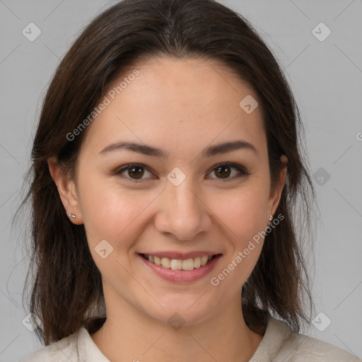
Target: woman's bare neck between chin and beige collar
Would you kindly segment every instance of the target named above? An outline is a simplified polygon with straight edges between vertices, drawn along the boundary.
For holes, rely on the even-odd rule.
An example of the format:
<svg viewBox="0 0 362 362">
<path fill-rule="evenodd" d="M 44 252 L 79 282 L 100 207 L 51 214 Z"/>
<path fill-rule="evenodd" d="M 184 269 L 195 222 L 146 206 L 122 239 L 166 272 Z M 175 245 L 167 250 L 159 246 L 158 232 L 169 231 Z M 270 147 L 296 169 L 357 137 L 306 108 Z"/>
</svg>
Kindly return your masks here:
<svg viewBox="0 0 362 362">
<path fill-rule="evenodd" d="M 247 327 L 241 298 L 194 325 L 170 326 L 132 305 L 107 305 L 107 320 L 91 337 L 112 362 L 249 361 L 262 335 Z M 113 308 L 114 307 L 114 308 Z"/>
</svg>

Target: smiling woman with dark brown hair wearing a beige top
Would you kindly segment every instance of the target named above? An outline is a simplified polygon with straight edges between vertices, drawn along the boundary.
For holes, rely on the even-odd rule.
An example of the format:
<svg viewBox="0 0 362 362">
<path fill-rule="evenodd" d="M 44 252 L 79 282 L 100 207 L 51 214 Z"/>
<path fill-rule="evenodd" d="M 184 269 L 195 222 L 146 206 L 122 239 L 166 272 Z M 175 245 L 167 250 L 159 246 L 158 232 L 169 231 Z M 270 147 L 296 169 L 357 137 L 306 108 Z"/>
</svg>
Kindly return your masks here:
<svg viewBox="0 0 362 362">
<path fill-rule="evenodd" d="M 296 218 L 310 230 L 314 197 L 300 132 L 273 54 L 229 8 L 125 0 L 95 18 L 33 144 L 46 347 L 21 361 L 359 361 L 299 333 L 313 303 Z"/>
</svg>

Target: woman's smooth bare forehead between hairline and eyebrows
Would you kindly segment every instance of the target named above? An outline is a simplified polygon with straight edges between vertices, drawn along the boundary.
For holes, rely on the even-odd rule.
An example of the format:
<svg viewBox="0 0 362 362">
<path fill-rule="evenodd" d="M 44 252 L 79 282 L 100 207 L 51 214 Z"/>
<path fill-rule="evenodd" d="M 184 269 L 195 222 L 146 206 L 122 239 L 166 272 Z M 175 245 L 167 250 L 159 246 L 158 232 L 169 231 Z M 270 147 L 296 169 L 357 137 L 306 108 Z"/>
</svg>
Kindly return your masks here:
<svg viewBox="0 0 362 362">
<path fill-rule="evenodd" d="M 213 140 L 242 138 L 259 148 L 266 143 L 261 107 L 248 114 L 240 106 L 245 97 L 259 102 L 257 94 L 215 60 L 157 57 L 134 63 L 104 96 L 109 104 L 87 129 L 85 144 L 93 149 L 119 139 L 165 144 L 175 152 Z"/>
</svg>

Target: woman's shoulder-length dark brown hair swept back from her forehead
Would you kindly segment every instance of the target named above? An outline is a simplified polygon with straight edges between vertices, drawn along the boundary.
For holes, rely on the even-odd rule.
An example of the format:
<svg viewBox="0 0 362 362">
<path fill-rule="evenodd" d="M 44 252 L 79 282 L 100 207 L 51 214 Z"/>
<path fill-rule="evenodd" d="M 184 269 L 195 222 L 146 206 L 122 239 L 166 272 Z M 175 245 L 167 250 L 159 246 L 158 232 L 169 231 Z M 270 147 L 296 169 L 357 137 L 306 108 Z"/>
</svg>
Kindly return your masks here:
<svg viewBox="0 0 362 362">
<path fill-rule="evenodd" d="M 25 286 L 34 268 L 30 312 L 40 321 L 37 336 L 45 345 L 59 341 L 104 310 L 101 275 L 85 228 L 69 222 L 47 160 L 57 156 L 59 165 L 74 177 L 85 132 L 73 141 L 66 135 L 91 114 L 124 66 L 155 56 L 218 60 L 255 89 L 267 131 L 271 189 L 279 180 L 281 154 L 288 158 L 288 168 L 276 209 L 284 220 L 265 236 L 255 269 L 243 286 L 243 315 L 255 332 L 264 330 L 270 316 L 300 331 L 300 321 L 310 323 L 307 308 L 313 310 L 302 247 L 312 240 L 315 191 L 301 141 L 303 124 L 279 64 L 252 25 L 216 1 L 125 0 L 83 30 L 59 64 L 42 104 L 31 185 L 19 208 L 31 202 Z"/>
</svg>

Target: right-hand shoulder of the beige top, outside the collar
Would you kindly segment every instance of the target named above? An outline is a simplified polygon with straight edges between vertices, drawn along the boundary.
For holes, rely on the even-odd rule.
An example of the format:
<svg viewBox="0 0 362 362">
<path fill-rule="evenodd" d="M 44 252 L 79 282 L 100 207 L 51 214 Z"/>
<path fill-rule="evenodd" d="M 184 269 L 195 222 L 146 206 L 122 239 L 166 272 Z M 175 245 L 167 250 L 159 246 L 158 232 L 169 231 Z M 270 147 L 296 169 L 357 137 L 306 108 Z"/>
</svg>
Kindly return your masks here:
<svg viewBox="0 0 362 362">
<path fill-rule="evenodd" d="M 292 332 L 284 339 L 274 362 L 362 362 L 344 349 L 304 334 Z"/>
</svg>

